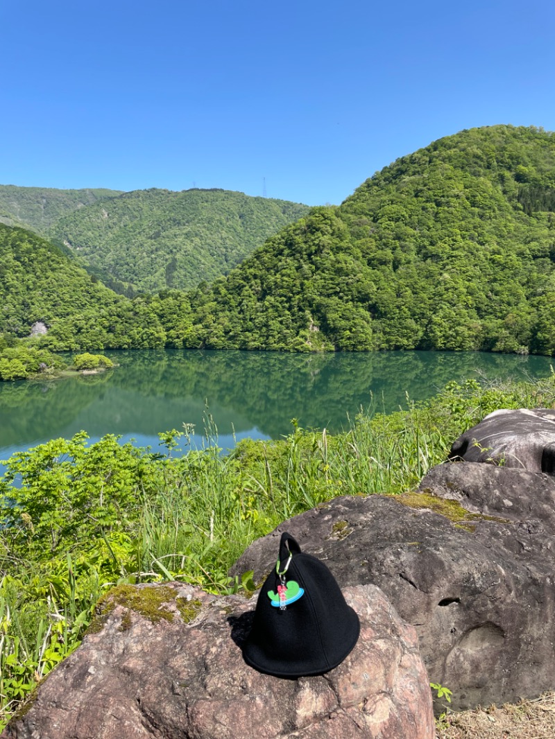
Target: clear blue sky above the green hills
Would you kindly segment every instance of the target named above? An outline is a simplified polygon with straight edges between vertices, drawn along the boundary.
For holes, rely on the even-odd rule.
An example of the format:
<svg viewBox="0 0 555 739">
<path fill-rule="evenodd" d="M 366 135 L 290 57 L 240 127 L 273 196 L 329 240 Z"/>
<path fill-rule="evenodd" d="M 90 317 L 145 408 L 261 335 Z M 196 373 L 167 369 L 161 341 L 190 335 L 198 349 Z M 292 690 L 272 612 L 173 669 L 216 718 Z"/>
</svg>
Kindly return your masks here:
<svg viewBox="0 0 555 739">
<path fill-rule="evenodd" d="M 473 126 L 555 130 L 555 3 L 0 0 L 0 183 L 339 203 Z"/>
</svg>

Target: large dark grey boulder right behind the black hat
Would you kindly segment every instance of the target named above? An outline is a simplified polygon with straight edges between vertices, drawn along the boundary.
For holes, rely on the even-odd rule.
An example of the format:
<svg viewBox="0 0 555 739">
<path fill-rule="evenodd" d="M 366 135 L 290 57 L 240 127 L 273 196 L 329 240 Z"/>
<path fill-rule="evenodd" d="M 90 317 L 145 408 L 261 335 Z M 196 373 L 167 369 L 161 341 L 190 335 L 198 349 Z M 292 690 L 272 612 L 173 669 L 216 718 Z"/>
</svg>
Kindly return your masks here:
<svg viewBox="0 0 555 739">
<path fill-rule="evenodd" d="M 445 489 L 454 500 L 440 497 Z M 418 493 L 341 497 L 284 522 L 232 573 L 263 580 L 289 531 L 342 587 L 373 583 L 386 593 L 417 630 L 430 680 L 451 689 L 455 709 L 535 697 L 555 685 L 553 502 L 547 475 L 448 464 Z"/>
</svg>

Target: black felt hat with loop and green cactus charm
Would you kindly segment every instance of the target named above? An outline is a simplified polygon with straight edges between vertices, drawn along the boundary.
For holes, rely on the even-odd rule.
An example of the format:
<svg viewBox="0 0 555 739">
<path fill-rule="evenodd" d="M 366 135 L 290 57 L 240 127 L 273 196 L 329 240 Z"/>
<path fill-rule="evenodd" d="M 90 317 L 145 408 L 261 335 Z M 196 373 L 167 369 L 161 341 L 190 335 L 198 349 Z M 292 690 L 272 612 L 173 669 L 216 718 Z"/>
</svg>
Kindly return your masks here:
<svg viewBox="0 0 555 739">
<path fill-rule="evenodd" d="M 280 678 L 322 675 L 346 658 L 359 633 L 358 616 L 326 565 L 282 534 L 243 646 L 246 663 Z"/>
</svg>

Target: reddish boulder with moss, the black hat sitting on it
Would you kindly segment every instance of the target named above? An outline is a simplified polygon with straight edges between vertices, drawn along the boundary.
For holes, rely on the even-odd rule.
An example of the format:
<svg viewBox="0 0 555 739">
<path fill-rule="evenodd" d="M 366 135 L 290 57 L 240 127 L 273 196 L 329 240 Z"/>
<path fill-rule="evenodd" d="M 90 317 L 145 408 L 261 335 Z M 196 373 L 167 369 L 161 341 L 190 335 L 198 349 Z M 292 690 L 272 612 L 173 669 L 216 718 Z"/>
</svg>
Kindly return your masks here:
<svg viewBox="0 0 555 739">
<path fill-rule="evenodd" d="M 354 650 L 326 675 L 284 680 L 243 661 L 256 599 L 191 585 L 121 586 L 78 650 L 3 739 L 433 739 L 414 629 L 373 585 L 344 590 Z"/>
</svg>

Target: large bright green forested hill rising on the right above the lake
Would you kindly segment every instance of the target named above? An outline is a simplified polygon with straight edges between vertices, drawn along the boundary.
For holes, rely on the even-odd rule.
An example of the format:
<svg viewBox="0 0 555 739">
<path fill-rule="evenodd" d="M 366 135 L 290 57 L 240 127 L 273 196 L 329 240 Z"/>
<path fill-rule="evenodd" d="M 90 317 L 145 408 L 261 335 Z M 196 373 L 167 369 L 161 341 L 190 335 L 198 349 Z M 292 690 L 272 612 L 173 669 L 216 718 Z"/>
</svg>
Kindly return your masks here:
<svg viewBox="0 0 555 739">
<path fill-rule="evenodd" d="M 191 296 L 187 346 L 555 352 L 555 135 L 463 131 Z"/>
</svg>

